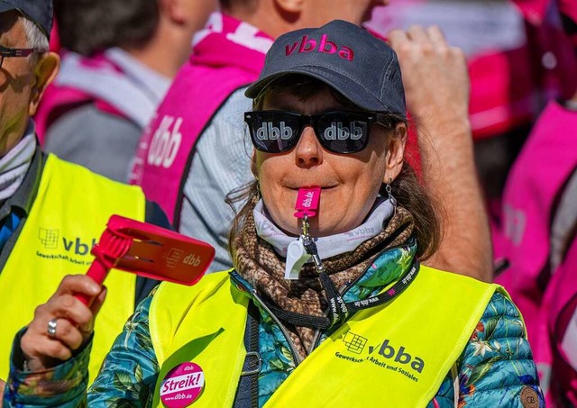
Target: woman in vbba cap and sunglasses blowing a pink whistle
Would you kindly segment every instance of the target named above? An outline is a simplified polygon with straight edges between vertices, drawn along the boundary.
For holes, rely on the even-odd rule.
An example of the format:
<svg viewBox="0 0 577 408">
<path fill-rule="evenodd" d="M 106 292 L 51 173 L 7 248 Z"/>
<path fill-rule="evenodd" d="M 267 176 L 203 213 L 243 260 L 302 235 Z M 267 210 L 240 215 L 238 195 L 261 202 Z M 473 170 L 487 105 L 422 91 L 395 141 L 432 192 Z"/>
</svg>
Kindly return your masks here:
<svg viewBox="0 0 577 408">
<path fill-rule="evenodd" d="M 289 32 L 247 95 L 255 182 L 231 233 L 234 270 L 162 284 L 126 324 L 89 405 L 543 406 L 508 295 L 421 264 L 439 227 L 403 159 L 394 51 L 341 21 Z M 85 277 L 65 284 L 99 290 Z M 92 313 L 59 307 L 41 306 L 14 350 L 8 401 L 85 398 Z M 52 342 L 48 311 L 68 329 Z"/>
</svg>

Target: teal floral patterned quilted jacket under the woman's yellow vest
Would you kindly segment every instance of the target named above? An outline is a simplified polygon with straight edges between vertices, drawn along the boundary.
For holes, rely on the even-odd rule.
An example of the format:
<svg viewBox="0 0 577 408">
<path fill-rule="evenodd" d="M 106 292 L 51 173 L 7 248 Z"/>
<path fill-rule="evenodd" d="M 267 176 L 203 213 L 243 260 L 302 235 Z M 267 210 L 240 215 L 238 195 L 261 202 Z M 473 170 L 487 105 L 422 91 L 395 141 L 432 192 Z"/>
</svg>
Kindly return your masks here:
<svg viewBox="0 0 577 408">
<path fill-rule="evenodd" d="M 350 298 L 346 300 L 363 299 L 389 286 L 402 275 L 414 253 L 415 247 L 407 246 L 381 254 L 365 276 L 350 288 L 347 293 Z M 234 280 L 237 285 L 248 286 L 250 292 L 250 285 L 242 278 L 234 275 Z M 375 281 L 379 285 L 374 285 Z M 371 285 L 366 285 L 367 282 Z M 20 369 L 22 356 L 19 348 L 14 347 L 4 406 L 150 407 L 160 371 L 149 331 L 151 299 L 152 295 L 142 301 L 126 322 L 88 393 L 85 390 L 89 346 L 69 361 L 41 373 Z M 295 368 L 278 325 L 266 313 L 261 314 L 259 343 L 263 365 L 258 382 L 259 406 L 268 401 Z M 427 408 L 545 407 L 520 314 L 499 293 L 492 296 L 456 367 L 458 385 L 447 373 Z"/>
</svg>

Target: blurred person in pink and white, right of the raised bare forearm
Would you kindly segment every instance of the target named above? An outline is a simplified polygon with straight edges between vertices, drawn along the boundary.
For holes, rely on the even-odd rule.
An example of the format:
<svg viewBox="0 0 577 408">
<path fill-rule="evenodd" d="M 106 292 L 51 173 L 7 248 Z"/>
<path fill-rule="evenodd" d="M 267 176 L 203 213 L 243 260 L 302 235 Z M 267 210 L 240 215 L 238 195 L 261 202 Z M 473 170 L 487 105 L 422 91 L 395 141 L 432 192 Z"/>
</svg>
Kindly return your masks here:
<svg viewBox="0 0 577 408">
<path fill-rule="evenodd" d="M 413 24 L 438 25 L 463 50 L 471 77 L 469 109 L 475 161 L 492 222 L 513 161 L 546 101 L 571 97 L 577 62 L 549 0 L 396 0 L 367 26 L 381 34 Z"/>
</svg>

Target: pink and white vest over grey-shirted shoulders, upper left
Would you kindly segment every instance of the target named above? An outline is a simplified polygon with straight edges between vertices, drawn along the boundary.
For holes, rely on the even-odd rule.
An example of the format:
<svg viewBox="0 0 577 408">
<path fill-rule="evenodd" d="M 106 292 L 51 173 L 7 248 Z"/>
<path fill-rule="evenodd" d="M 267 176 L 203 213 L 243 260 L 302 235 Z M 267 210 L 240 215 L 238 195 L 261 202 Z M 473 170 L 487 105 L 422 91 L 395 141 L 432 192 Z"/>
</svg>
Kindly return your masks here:
<svg viewBox="0 0 577 408">
<path fill-rule="evenodd" d="M 137 85 L 138 81 L 124 73 L 121 64 L 114 60 L 117 52 L 109 50 L 93 58 L 74 52 L 64 54 L 60 72 L 46 89 L 34 116 L 41 143 L 53 122 L 87 103 L 94 103 L 101 111 L 122 116 L 144 129 L 156 109 L 156 101 Z"/>
</svg>

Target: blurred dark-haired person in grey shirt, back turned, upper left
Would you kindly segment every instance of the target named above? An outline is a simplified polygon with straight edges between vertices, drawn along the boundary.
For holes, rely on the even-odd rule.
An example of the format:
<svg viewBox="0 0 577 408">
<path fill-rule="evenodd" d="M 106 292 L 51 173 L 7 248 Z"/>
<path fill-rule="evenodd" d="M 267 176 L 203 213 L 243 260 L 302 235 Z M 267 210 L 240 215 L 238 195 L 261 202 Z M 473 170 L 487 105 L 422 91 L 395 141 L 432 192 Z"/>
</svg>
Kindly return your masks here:
<svg viewBox="0 0 577 408">
<path fill-rule="evenodd" d="M 216 0 L 56 0 L 62 68 L 36 115 L 46 151 L 126 182 L 144 127 Z"/>
</svg>

